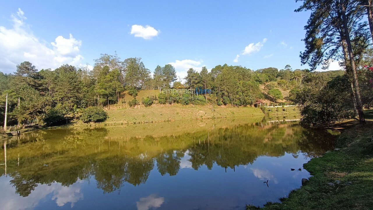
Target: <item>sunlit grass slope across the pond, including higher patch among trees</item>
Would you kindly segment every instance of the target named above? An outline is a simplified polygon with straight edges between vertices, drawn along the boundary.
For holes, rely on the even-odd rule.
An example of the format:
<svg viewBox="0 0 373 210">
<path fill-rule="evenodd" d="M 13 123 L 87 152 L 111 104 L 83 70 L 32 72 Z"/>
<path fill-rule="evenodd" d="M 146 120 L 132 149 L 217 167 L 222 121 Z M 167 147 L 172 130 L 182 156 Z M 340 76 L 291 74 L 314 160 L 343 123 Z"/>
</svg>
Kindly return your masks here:
<svg viewBox="0 0 373 210">
<path fill-rule="evenodd" d="M 286 92 L 286 90 L 283 90 Z M 159 90 L 140 90 L 136 99 L 141 101 L 147 96 L 158 96 Z M 110 106 L 107 111 L 109 118 L 105 121 L 106 124 L 132 124 L 146 122 L 163 122 L 176 120 L 200 120 L 200 119 L 215 119 L 228 117 L 253 117 L 263 116 L 260 108 L 254 107 L 232 107 L 232 106 L 217 106 L 217 105 L 181 105 L 181 104 L 159 104 L 154 101 L 150 107 L 145 107 L 140 104 L 135 107 L 129 107 L 128 101 L 134 99 L 128 92 L 123 92 L 122 100 L 118 104 Z M 294 114 L 297 110 L 288 108 L 286 112 L 282 109 L 273 109 L 269 114 Z"/>
</svg>

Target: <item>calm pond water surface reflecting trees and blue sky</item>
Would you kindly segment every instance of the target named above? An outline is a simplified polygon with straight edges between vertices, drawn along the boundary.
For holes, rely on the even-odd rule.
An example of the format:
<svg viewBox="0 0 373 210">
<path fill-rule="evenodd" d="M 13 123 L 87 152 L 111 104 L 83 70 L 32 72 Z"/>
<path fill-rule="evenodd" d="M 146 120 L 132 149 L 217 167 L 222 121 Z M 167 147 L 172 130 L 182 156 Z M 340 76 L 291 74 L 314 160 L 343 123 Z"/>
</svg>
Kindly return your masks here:
<svg viewBox="0 0 373 210">
<path fill-rule="evenodd" d="M 333 142 L 330 133 L 303 129 L 291 118 L 12 137 L 0 152 L 0 209 L 244 210 L 278 201 L 310 176 L 303 164 Z"/>
</svg>

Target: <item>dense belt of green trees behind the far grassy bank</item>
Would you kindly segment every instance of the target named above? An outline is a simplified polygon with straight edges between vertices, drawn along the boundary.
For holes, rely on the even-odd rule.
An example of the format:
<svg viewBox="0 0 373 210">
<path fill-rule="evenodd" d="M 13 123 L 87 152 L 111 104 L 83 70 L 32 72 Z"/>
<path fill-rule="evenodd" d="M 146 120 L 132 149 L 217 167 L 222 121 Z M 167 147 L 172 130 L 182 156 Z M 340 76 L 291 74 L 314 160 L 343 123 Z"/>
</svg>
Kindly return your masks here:
<svg viewBox="0 0 373 210">
<path fill-rule="evenodd" d="M 364 54 L 364 62 L 372 58 L 371 54 Z M 369 68 L 364 68 L 364 72 L 368 71 Z M 185 81 L 181 82 L 176 81 L 175 68 L 170 64 L 157 66 L 152 77 L 140 58 L 129 58 L 122 62 L 116 55 L 103 54 L 95 60 L 93 70 L 62 65 L 55 70 L 38 71 L 30 62 L 23 62 L 17 66 L 14 74 L 0 74 L 0 94 L 4 96 L 8 93 L 9 96 L 9 124 L 24 124 L 37 119 L 52 125 L 57 122 L 47 123 L 47 110 L 58 110 L 65 119 L 73 118 L 73 122 L 79 118 L 85 122 L 104 120 L 106 117 L 89 117 L 87 109 L 93 106 L 110 110 L 112 104 L 120 101 L 124 104 L 125 90 L 132 97 L 138 96 L 141 90 L 161 90 L 157 96 L 128 100 L 130 107 L 140 104 L 151 106 L 156 101 L 159 104 L 236 107 L 253 106 L 259 102 L 261 105 L 286 105 L 290 103 L 289 100 L 296 100 L 297 93 L 307 87 L 310 78 L 316 74 L 329 81 L 343 75 L 344 71 L 316 73 L 308 69 L 292 70 L 290 65 L 281 70 L 270 67 L 252 71 L 224 64 L 217 65 L 211 71 L 206 67 L 200 72 L 191 68 Z M 163 90 L 180 91 L 163 93 Z M 286 92 L 289 92 L 289 98 L 284 97 L 283 93 Z M 1 104 L 4 104 L 4 99 L 0 98 Z M 81 110 L 85 110 L 85 114 L 81 114 Z M 0 112 L 4 112 L 2 107 Z"/>
</svg>

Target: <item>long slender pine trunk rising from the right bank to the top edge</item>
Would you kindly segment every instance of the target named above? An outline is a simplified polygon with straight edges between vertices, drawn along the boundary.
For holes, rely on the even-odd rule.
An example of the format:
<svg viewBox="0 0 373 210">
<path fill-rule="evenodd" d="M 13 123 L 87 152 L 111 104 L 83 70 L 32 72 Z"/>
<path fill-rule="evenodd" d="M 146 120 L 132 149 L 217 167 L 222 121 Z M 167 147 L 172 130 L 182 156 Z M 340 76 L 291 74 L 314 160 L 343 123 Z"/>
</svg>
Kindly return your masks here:
<svg viewBox="0 0 373 210">
<path fill-rule="evenodd" d="M 365 124 L 365 118 L 364 118 L 364 112 L 363 112 L 363 104 L 361 102 L 361 96 L 360 96 L 360 90 L 359 90 L 359 82 L 357 78 L 357 71 L 354 61 L 354 55 L 352 53 L 352 46 L 351 46 L 351 40 L 350 40 L 350 32 L 348 31 L 348 21 L 346 18 L 346 11 L 345 6 L 343 3 L 343 0 L 339 0 L 340 6 L 341 6 L 341 12 L 342 12 L 342 25 L 344 29 L 344 38 L 347 43 L 347 50 L 348 50 L 348 57 L 350 59 L 350 65 L 351 65 L 351 71 L 352 71 L 352 81 L 354 84 L 354 93 L 356 96 L 356 108 L 359 115 L 359 122 L 360 124 Z"/>
</svg>

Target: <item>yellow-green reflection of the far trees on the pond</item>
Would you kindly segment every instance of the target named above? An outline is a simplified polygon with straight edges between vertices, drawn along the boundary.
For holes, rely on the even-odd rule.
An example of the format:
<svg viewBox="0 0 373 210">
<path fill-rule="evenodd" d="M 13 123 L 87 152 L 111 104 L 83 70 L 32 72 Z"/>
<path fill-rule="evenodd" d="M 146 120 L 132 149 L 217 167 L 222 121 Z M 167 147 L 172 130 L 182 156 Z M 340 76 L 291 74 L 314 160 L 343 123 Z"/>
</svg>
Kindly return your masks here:
<svg viewBox="0 0 373 210">
<path fill-rule="evenodd" d="M 125 135 L 125 134 L 123 134 Z M 306 130 L 297 123 L 242 124 L 154 138 L 120 140 L 104 129 L 37 131 L 7 140 L 7 173 L 16 193 L 28 196 L 37 185 L 69 186 L 94 176 L 104 192 L 124 182 L 140 185 L 156 164 L 163 176 L 179 172 L 184 154 L 192 168 L 212 169 L 251 164 L 258 156 L 299 151 L 313 157 L 332 146 L 327 132 Z M 4 157 L 3 151 L 1 153 Z"/>
</svg>

